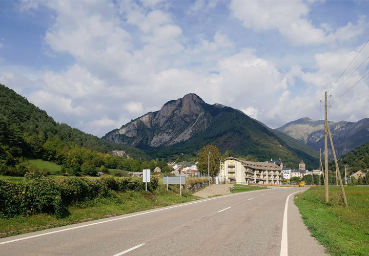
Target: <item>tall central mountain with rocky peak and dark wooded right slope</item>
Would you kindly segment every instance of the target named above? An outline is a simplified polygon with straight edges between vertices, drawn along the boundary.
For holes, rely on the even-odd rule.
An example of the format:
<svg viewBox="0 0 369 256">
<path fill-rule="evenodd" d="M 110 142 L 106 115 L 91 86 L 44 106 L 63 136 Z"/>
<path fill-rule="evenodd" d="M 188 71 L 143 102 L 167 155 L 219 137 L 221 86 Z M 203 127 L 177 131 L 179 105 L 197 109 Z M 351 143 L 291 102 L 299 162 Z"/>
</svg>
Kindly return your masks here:
<svg viewBox="0 0 369 256">
<path fill-rule="evenodd" d="M 135 146 L 152 157 L 196 155 L 203 145 L 214 144 L 221 152 L 252 155 L 260 161 L 281 158 L 297 166 L 301 159 L 309 166 L 318 163 L 316 154 L 304 143 L 274 131 L 239 110 L 221 104 L 207 104 L 196 94 L 165 103 L 107 133 L 103 139 Z"/>
</svg>

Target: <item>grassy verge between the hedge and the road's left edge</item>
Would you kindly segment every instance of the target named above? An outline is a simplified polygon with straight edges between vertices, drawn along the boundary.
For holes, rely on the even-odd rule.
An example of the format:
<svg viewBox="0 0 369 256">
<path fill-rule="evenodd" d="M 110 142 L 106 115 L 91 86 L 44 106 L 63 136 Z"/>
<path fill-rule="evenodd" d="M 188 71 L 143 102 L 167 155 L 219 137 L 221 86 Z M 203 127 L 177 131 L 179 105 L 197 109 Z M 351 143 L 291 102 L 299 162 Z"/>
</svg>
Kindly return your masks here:
<svg viewBox="0 0 369 256">
<path fill-rule="evenodd" d="M 0 219 L 0 233 L 2 233 L 0 237 L 70 225 L 81 221 L 129 214 L 131 212 L 185 203 L 196 199 L 199 198 L 192 196 L 192 193 L 186 189 L 182 189 L 182 198 L 180 198 L 178 185 L 169 185 L 168 191 L 166 186 L 161 185 L 154 193 L 150 193 L 149 191 L 114 193 L 113 197 L 97 198 L 68 207 L 69 215 L 65 218 L 58 219 L 54 215 L 37 214 L 30 217 Z"/>
</svg>

